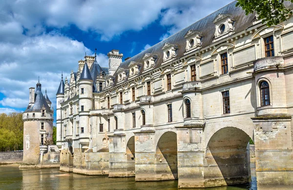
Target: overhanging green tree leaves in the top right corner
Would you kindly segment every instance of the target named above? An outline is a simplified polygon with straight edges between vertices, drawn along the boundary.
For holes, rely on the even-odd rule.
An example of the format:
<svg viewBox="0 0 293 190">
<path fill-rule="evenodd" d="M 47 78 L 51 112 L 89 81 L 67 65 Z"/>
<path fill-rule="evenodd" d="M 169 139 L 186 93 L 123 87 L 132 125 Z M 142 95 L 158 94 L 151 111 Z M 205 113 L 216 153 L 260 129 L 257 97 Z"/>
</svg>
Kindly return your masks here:
<svg viewBox="0 0 293 190">
<path fill-rule="evenodd" d="M 236 6 L 242 7 L 246 15 L 255 11 L 258 19 L 262 19 L 263 23 L 267 22 L 268 26 L 283 22 L 288 14 L 292 14 L 284 6 L 284 0 L 238 0 Z"/>
</svg>

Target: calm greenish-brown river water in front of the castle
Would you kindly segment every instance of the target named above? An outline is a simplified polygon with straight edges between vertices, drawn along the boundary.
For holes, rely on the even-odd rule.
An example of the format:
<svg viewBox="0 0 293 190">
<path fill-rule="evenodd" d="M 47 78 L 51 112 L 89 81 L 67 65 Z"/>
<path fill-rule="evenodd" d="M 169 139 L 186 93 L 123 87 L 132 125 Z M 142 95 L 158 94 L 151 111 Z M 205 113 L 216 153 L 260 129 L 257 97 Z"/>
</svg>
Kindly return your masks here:
<svg viewBox="0 0 293 190">
<path fill-rule="evenodd" d="M 251 174 L 251 184 L 205 190 L 256 190 Z M 57 168 L 19 169 L 18 165 L 0 165 L 0 190 L 177 190 L 177 180 L 135 182 L 134 177 L 108 178 L 67 173 Z"/>
</svg>

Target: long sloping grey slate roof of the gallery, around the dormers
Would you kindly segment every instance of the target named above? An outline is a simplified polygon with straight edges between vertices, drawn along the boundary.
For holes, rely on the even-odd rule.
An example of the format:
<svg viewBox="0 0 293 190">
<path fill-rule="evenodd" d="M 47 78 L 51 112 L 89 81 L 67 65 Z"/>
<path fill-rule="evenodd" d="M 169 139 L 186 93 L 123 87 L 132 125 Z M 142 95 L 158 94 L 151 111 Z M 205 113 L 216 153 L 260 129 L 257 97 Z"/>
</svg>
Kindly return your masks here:
<svg viewBox="0 0 293 190">
<path fill-rule="evenodd" d="M 202 39 L 202 48 L 205 48 L 212 44 L 212 39 L 214 39 L 214 33 L 215 33 L 215 25 L 213 23 L 213 20 L 219 15 L 219 14 L 231 14 L 233 19 L 235 20 L 234 23 L 234 32 L 239 33 L 247 28 L 252 26 L 252 21 L 255 20 L 255 13 L 245 15 L 245 11 L 242 10 L 241 7 L 235 7 L 237 1 L 233 1 L 230 4 L 224 6 L 223 8 L 215 11 L 214 13 L 211 13 L 207 17 L 198 20 L 197 22 L 191 24 L 190 26 L 186 27 L 185 29 L 175 33 L 174 35 L 170 36 L 169 38 L 164 39 L 163 41 L 153 45 L 152 47 L 146 49 L 145 51 L 135 55 L 134 57 L 131 57 L 127 59 L 126 61 L 122 62 L 119 67 L 128 69 L 128 65 L 131 61 L 140 62 L 144 64 L 143 57 L 148 54 L 156 54 L 157 60 L 155 61 L 154 68 L 158 68 L 161 66 L 163 62 L 163 51 L 162 48 L 165 43 L 171 43 L 171 44 L 177 44 L 178 50 L 177 50 L 177 57 L 183 57 L 185 53 L 185 46 L 186 46 L 186 39 L 184 36 L 188 32 L 188 30 L 197 30 L 202 33 L 204 36 Z M 284 2 L 285 6 L 289 9 L 293 8 L 293 4 L 289 1 Z M 144 65 L 142 65 L 142 69 L 140 69 L 139 75 L 143 72 Z M 117 69 L 118 70 L 118 69 Z M 117 76 L 117 73 L 114 74 L 114 76 Z M 127 78 L 126 78 L 127 80 Z M 115 83 L 113 84 L 115 85 Z"/>
</svg>

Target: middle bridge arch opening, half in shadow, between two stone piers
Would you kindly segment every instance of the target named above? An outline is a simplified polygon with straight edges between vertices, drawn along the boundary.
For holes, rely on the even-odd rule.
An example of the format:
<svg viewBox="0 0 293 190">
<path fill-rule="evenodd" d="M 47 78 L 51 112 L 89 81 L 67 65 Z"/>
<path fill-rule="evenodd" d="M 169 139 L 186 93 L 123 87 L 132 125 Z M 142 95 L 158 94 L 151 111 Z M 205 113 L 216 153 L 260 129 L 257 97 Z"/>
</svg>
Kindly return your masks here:
<svg viewBox="0 0 293 190">
<path fill-rule="evenodd" d="M 158 180 L 178 179 L 177 134 L 164 133 L 156 147 L 156 174 Z"/>
</svg>

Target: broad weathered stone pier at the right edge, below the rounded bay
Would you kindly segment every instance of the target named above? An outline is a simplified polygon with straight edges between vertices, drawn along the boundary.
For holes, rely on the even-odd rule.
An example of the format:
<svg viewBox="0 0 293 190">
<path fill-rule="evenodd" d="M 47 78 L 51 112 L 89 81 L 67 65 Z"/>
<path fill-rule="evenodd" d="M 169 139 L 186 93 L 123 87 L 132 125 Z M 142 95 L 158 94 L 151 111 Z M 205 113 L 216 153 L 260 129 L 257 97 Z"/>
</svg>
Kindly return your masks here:
<svg viewBox="0 0 293 190">
<path fill-rule="evenodd" d="M 257 187 L 293 185 L 291 115 L 257 116 L 254 125 Z"/>
</svg>

